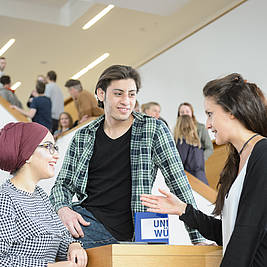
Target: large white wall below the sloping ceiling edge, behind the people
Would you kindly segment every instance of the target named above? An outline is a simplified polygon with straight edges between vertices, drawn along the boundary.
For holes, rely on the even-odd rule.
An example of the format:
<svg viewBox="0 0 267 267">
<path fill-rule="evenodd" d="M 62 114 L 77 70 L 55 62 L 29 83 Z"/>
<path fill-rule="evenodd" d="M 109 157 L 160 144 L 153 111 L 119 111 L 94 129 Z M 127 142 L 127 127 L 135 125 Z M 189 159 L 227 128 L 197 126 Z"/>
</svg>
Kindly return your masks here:
<svg viewBox="0 0 267 267">
<path fill-rule="evenodd" d="M 178 105 L 185 101 L 205 122 L 202 88 L 209 80 L 238 72 L 267 95 L 266 11 L 266 0 L 248 0 L 142 66 L 138 100 L 159 102 L 173 128 Z"/>
</svg>

